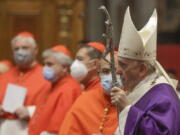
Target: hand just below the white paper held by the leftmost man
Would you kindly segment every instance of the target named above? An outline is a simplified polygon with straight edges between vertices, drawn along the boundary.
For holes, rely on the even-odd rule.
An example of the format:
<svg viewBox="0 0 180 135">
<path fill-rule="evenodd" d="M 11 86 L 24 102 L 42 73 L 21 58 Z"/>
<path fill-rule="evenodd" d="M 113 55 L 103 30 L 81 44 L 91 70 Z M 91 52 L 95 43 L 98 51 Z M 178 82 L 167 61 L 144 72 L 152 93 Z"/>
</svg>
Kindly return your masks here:
<svg viewBox="0 0 180 135">
<path fill-rule="evenodd" d="M 29 119 L 29 112 L 26 107 L 19 107 L 18 109 L 16 109 L 15 114 L 18 116 L 19 119 Z"/>
</svg>

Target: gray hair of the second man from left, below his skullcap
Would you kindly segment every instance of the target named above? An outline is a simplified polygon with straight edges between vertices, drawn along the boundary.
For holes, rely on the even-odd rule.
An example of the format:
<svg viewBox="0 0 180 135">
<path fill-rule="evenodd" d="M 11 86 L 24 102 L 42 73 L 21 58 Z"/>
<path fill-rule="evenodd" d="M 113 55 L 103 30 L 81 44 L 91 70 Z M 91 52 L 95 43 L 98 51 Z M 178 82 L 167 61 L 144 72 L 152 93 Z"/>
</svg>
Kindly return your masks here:
<svg viewBox="0 0 180 135">
<path fill-rule="evenodd" d="M 60 52 L 50 50 L 50 49 L 45 50 L 42 54 L 43 58 L 48 57 L 48 56 L 54 56 L 61 65 L 70 66 L 73 62 L 73 60 L 69 56 Z"/>
</svg>

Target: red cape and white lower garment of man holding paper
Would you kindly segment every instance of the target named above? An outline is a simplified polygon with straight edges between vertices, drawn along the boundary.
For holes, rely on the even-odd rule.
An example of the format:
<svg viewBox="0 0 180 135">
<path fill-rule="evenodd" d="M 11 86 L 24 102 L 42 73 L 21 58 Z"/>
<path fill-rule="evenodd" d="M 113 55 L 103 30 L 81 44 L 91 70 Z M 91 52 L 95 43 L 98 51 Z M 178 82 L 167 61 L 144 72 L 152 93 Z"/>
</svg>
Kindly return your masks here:
<svg viewBox="0 0 180 135">
<path fill-rule="evenodd" d="M 51 85 L 42 76 L 42 66 L 34 65 L 28 70 L 20 70 L 12 67 L 9 71 L 0 76 L 0 104 L 2 105 L 8 84 L 14 84 L 27 89 L 24 106 L 27 107 L 30 115 L 41 101 Z M 12 89 L 13 91 L 13 89 Z M 30 109 L 34 108 L 34 109 Z M 17 119 L 17 116 L 4 112 L 0 118 L 0 134 L 2 135 L 27 135 L 28 121 Z M 12 130 L 10 130 L 12 129 Z"/>
</svg>

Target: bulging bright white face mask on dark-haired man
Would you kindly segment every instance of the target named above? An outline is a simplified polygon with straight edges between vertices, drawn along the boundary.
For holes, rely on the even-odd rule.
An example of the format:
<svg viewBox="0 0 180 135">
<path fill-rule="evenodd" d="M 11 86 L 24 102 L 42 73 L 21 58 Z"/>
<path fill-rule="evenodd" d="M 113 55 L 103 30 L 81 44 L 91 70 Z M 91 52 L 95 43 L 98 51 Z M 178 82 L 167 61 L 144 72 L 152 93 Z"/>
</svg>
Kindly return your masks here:
<svg viewBox="0 0 180 135">
<path fill-rule="evenodd" d="M 70 70 L 71 70 L 71 75 L 74 78 L 76 78 L 78 81 L 82 81 L 88 74 L 88 68 L 83 62 L 79 60 L 75 60 L 72 63 Z"/>
</svg>

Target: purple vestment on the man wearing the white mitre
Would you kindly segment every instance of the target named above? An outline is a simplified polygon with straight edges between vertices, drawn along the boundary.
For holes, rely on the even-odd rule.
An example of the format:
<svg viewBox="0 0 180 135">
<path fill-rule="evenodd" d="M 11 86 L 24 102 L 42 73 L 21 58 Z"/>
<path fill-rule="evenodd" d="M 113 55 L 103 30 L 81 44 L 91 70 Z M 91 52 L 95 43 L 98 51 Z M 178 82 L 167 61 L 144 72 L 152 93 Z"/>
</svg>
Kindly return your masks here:
<svg viewBox="0 0 180 135">
<path fill-rule="evenodd" d="M 180 100 L 174 89 L 155 85 L 131 106 L 124 135 L 180 135 Z"/>
</svg>

